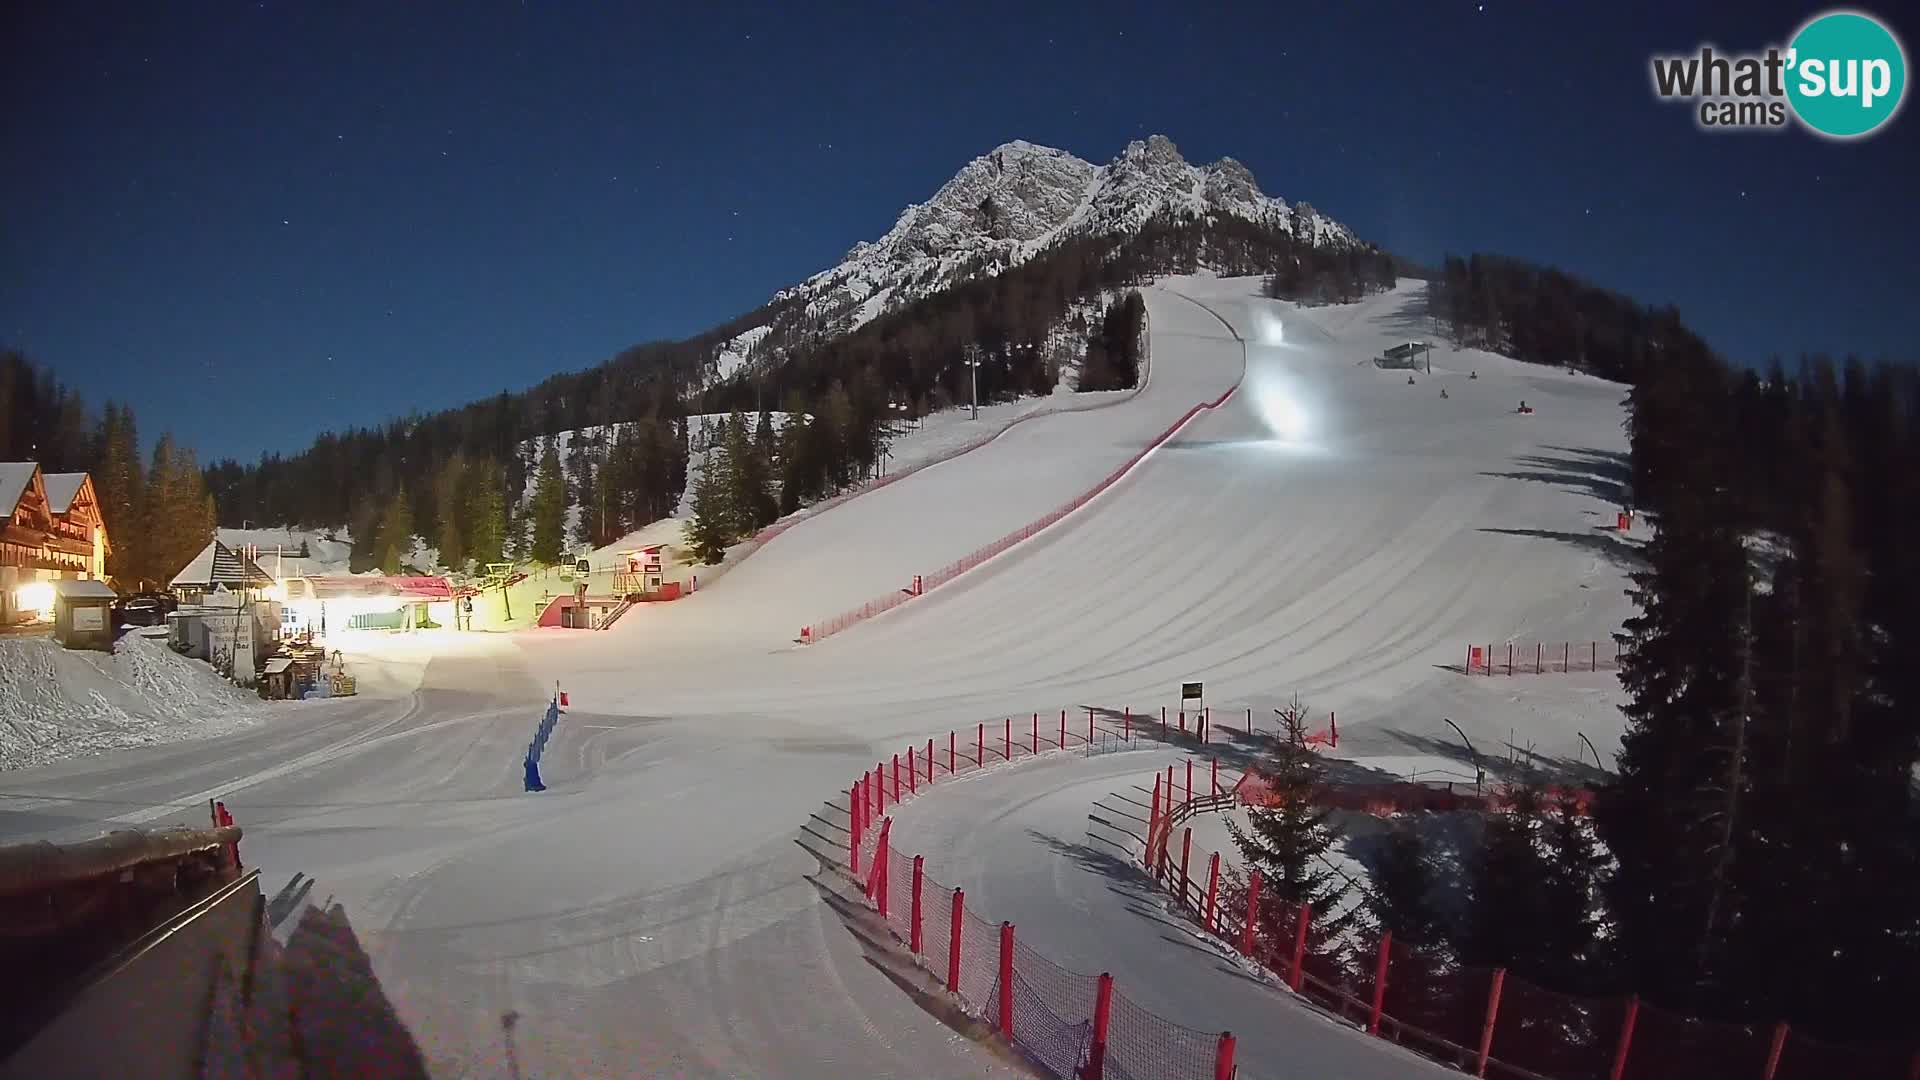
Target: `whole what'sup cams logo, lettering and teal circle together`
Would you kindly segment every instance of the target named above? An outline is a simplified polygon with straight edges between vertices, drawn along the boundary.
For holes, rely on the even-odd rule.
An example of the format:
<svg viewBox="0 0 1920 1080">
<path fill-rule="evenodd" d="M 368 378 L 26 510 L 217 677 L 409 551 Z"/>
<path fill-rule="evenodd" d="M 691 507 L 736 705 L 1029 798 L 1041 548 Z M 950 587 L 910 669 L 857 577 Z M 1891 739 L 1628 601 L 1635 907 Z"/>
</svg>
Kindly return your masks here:
<svg viewBox="0 0 1920 1080">
<path fill-rule="evenodd" d="M 1907 52 L 1893 29 L 1860 12 L 1809 19 L 1786 48 L 1655 56 L 1653 94 L 1693 106 L 1705 131 L 1766 131 L 1799 121 L 1824 138 L 1872 135 L 1901 111 Z"/>
</svg>

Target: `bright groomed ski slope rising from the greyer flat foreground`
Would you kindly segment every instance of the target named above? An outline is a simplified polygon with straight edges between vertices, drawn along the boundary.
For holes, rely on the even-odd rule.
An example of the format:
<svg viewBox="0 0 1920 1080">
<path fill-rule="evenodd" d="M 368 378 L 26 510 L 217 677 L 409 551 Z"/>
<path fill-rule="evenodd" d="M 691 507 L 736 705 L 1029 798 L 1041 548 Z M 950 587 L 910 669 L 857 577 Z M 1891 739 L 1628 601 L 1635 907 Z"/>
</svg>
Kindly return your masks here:
<svg viewBox="0 0 1920 1080">
<path fill-rule="evenodd" d="M 636 713 L 914 736 L 1048 707 L 1158 707 L 1200 678 L 1210 703 L 1269 721 L 1294 694 L 1338 709 L 1350 753 L 1407 753 L 1409 740 L 1423 753 L 1452 738 L 1442 717 L 1490 751 L 1511 728 L 1540 753 L 1576 759 L 1580 734 L 1607 753 L 1609 673 L 1442 667 L 1467 642 L 1605 648 L 1628 615 L 1636 542 L 1613 532 L 1624 388 L 1446 346 L 1407 386 L 1369 359 L 1432 336 L 1419 282 L 1306 311 L 1256 288 L 1146 290 L 1154 377 L 1135 402 L 1020 425 L 797 527 L 691 601 L 522 648 L 595 707 Z M 900 588 L 1098 482 L 1233 386 L 1242 338 L 1244 384 L 1094 503 L 841 636 L 791 642 L 801 611 Z M 1519 415 L 1521 400 L 1536 411 Z M 766 625 L 780 619 L 793 625 Z"/>
</svg>

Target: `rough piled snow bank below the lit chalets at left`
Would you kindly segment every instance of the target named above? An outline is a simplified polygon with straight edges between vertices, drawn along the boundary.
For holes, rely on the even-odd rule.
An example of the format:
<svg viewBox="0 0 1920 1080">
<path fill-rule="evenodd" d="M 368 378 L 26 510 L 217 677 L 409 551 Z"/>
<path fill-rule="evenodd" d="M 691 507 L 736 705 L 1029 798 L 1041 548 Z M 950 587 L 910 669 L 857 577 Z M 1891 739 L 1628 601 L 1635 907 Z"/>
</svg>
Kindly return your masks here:
<svg viewBox="0 0 1920 1080">
<path fill-rule="evenodd" d="M 0 638 L 0 769 L 227 734 L 265 715 L 265 701 L 165 638 L 129 634 L 111 655 Z"/>
</svg>

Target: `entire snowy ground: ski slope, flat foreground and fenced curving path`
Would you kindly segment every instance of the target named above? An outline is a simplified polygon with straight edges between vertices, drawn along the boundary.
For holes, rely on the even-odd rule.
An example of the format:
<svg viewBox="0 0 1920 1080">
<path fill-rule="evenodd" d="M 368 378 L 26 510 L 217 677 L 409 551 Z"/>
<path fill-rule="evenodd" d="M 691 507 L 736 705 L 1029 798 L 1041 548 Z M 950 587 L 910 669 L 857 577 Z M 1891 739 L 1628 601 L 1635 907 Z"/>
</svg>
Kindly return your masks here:
<svg viewBox="0 0 1920 1080">
<path fill-rule="evenodd" d="M 13 771 L 10 798 L 44 805 L 0 815 L 0 836 L 198 821 L 217 792 L 267 888 L 300 871 L 346 907 L 436 1072 L 497 1074 L 511 1045 L 538 1076 L 1002 1074 L 870 963 L 835 892 L 845 815 L 822 803 L 906 742 L 1081 703 L 1144 711 L 1200 678 L 1217 711 L 1271 715 L 1294 692 L 1338 709 L 1340 753 L 1394 769 L 1461 767 L 1442 719 L 1490 755 L 1519 742 L 1572 761 L 1580 734 L 1617 748 L 1607 673 L 1446 665 L 1469 640 L 1605 640 L 1628 613 L 1634 544 L 1603 528 L 1622 388 L 1448 350 L 1407 386 L 1369 357 L 1427 332 L 1419 284 L 1311 311 L 1256 290 L 1146 288 L 1142 392 L 839 502 L 693 598 L 607 632 L 467 634 L 311 721 Z M 1073 500 L 1236 384 L 1043 534 L 820 646 L 791 642 Z M 1515 415 L 1521 398 L 1534 415 Z M 572 705 L 549 790 L 528 796 L 520 759 L 555 686 Z M 950 832 L 914 844 L 941 880 L 977 871 L 970 901 L 1058 963 L 1110 969 L 1202 1030 L 1284 1032 L 1246 1074 L 1423 1068 L 1261 997 L 1204 945 L 1160 942 L 1185 932 L 1125 911 L 1117 878 L 1087 888 L 1085 815 L 1152 769 L 1150 751 L 1123 757 L 1035 767 L 1060 773 L 1033 803 L 993 776 L 952 799 L 935 788 L 908 813 Z"/>
</svg>

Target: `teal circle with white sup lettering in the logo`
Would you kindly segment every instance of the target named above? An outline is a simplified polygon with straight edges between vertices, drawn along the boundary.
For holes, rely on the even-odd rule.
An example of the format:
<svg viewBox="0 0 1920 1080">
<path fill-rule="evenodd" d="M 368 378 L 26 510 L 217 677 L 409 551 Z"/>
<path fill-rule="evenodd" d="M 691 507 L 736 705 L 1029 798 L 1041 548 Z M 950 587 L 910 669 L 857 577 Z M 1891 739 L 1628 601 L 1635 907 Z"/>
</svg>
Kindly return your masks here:
<svg viewBox="0 0 1920 1080">
<path fill-rule="evenodd" d="M 1907 94 L 1907 52 L 1880 19 L 1828 12 L 1788 44 L 1788 102 L 1828 138 L 1857 138 L 1893 119 Z"/>
</svg>

